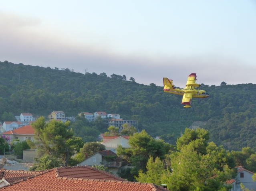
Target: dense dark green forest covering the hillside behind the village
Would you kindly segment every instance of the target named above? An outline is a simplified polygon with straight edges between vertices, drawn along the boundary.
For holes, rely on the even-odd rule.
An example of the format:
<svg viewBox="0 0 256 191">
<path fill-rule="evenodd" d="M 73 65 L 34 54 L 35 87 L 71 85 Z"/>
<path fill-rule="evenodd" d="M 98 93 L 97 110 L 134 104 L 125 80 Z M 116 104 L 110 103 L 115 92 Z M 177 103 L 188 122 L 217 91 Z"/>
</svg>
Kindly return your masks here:
<svg viewBox="0 0 256 191">
<path fill-rule="evenodd" d="M 133 77 L 81 74 L 4 61 L 0 62 L 0 116 L 4 112 L 30 112 L 35 117 L 47 117 L 53 110 L 63 110 L 66 116 L 95 111 L 119 113 L 124 119 L 138 120 L 139 130 L 162 136 L 170 143 L 193 121 L 202 120 L 208 121 L 204 128 L 216 144 L 230 150 L 246 146 L 256 150 L 256 85 L 224 84 L 202 84 L 200 88 L 210 97 L 194 98 L 191 108 L 183 108 L 181 96 L 164 93 L 163 87 L 154 83 L 136 83 Z M 85 132 L 90 136 L 90 131 Z"/>
</svg>

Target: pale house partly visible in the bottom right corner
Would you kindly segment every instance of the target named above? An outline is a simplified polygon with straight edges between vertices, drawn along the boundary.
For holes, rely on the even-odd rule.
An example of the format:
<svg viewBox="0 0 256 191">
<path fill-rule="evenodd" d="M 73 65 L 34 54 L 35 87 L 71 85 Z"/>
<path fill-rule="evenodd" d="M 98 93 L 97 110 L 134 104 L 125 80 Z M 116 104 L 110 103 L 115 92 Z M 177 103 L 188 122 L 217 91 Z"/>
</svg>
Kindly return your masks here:
<svg viewBox="0 0 256 191">
<path fill-rule="evenodd" d="M 242 166 L 238 166 L 236 168 L 238 169 L 236 177 L 238 183 L 243 183 L 243 185 L 250 190 L 256 190 L 256 182 L 252 180 L 252 175 L 254 173 L 244 169 Z M 237 184 L 236 186 L 241 189 L 240 184 Z"/>
</svg>

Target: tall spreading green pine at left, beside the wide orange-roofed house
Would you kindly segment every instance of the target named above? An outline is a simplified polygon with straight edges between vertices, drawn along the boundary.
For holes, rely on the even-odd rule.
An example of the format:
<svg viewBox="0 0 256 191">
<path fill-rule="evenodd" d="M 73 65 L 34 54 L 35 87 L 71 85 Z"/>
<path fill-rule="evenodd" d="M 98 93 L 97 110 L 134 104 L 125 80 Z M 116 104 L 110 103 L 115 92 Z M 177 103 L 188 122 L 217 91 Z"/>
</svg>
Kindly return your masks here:
<svg viewBox="0 0 256 191">
<path fill-rule="evenodd" d="M 65 166 L 67 166 L 70 153 L 74 150 L 74 148 L 67 143 L 68 140 L 73 139 L 74 134 L 72 129 L 68 130 L 70 122 L 62 123 L 52 120 L 45 124 L 44 121 L 44 117 L 40 117 L 36 122 L 32 123 L 32 128 L 34 128 L 35 133 L 35 142 L 28 142 L 28 144 L 36 146 L 38 155 L 48 155 L 56 159 L 60 158 L 65 163 Z M 71 142 L 72 141 L 69 143 Z"/>
</svg>

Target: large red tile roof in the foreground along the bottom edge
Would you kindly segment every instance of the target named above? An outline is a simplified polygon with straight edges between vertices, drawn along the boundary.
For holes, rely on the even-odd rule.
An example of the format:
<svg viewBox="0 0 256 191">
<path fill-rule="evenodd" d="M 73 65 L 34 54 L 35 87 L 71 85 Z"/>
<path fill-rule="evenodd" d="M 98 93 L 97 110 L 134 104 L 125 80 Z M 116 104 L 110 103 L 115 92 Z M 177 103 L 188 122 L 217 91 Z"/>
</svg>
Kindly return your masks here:
<svg viewBox="0 0 256 191">
<path fill-rule="evenodd" d="M 120 177 L 116 177 L 115 175 L 106 173 L 105 171 L 87 166 L 60 167 L 47 171 L 23 172 L 23 174 L 31 176 L 23 177 L 23 179 L 18 179 L 21 176 L 17 176 L 17 181 L 9 182 L 10 185 L 5 185 L 1 187 L 0 190 L 167 191 L 167 189 L 159 187 L 153 183 L 129 182 Z M 86 172 L 90 172 L 92 176 L 89 176 L 90 173 Z M 95 175 L 97 176 L 96 178 L 94 178 Z M 100 176 L 103 176 L 103 178 Z M 11 177 L 10 179 L 14 179 L 14 177 Z"/>
</svg>

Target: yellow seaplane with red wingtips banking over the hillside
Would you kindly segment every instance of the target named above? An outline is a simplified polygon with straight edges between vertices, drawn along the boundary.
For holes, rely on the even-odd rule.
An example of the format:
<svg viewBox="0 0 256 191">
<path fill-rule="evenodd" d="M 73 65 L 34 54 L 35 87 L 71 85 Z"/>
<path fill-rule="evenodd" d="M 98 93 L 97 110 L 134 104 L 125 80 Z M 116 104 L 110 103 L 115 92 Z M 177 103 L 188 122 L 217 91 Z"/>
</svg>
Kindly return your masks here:
<svg viewBox="0 0 256 191">
<path fill-rule="evenodd" d="M 189 108 L 191 107 L 190 104 L 192 97 L 206 98 L 210 96 L 204 90 L 195 89 L 195 87 L 200 87 L 200 84 L 197 84 L 196 80 L 196 74 L 191 73 L 187 78 L 186 87 L 184 89 L 177 89 L 172 84 L 172 80 L 169 80 L 168 78 L 163 78 L 163 91 L 167 93 L 183 95 L 181 104 L 185 104 L 184 107 Z"/>
</svg>

